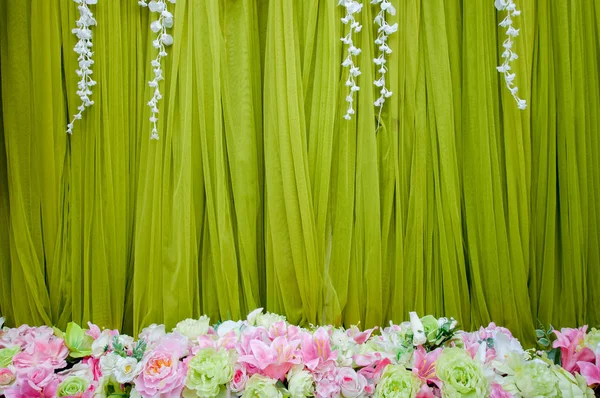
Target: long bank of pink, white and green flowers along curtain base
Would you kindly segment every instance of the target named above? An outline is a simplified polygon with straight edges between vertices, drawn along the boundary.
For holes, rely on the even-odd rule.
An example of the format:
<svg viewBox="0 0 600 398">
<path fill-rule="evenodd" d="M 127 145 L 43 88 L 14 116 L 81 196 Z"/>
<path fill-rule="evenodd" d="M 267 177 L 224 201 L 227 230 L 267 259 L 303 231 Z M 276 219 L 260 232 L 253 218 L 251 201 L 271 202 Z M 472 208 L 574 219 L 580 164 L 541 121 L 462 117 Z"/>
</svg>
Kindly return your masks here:
<svg viewBox="0 0 600 398">
<path fill-rule="evenodd" d="M 467 333 L 452 318 L 416 313 L 409 322 L 361 331 L 300 328 L 258 309 L 216 325 L 187 319 L 170 332 L 150 325 L 137 340 L 91 323 L 71 323 L 64 333 L 24 325 L 0 331 L 0 395 L 593 397 L 600 331 L 543 334 L 554 336 L 558 362 L 523 350 L 493 323 Z"/>
</svg>

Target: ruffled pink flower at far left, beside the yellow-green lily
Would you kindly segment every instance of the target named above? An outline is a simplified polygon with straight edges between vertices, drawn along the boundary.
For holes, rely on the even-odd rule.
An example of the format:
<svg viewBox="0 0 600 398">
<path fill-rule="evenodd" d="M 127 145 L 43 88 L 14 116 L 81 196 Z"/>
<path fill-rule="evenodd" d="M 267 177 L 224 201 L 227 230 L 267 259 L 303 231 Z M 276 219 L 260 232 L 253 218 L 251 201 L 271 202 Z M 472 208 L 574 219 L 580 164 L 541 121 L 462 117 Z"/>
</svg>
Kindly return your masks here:
<svg viewBox="0 0 600 398">
<path fill-rule="evenodd" d="M 66 358 L 69 349 L 65 341 L 45 332 L 34 332 L 25 337 L 27 344 L 23 347 L 23 351 L 13 357 L 13 365 L 17 369 L 29 369 L 41 364 L 48 364 L 54 369 L 67 366 Z"/>
</svg>

